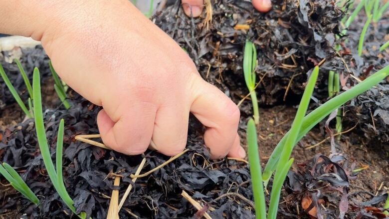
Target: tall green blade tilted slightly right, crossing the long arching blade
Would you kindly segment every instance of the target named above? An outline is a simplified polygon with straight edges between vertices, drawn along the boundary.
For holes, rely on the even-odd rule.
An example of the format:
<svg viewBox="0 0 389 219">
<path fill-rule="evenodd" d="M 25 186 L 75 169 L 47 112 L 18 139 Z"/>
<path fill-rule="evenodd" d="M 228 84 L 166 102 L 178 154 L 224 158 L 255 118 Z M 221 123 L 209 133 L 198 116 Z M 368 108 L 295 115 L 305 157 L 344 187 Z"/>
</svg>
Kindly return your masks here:
<svg viewBox="0 0 389 219">
<path fill-rule="evenodd" d="M 299 108 L 297 109 L 296 116 L 293 120 L 292 127 L 289 131 L 289 135 L 287 136 L 284 148 L 280 154 L 280 159 L 275 171 L 273 187 L 270 195 L 269 219 L 275 219 L 277 217 L 278 202 L 280 199 L 282 184 L 286 178 L 290 166 L 293 163 L 293 159 L 290 159 L 290 155 L 292 154 L 293 147 L 297 143 L 298 133 L 300 132 L 301 126 L 303 124 L 303 118 L 307 112 L 318 75 L 319 66 L 316 66 L 313 69 L 311 76 L 309 77 L 307 86 L 303 93 L 303 97 L 301 98 Z"/>
</svg>

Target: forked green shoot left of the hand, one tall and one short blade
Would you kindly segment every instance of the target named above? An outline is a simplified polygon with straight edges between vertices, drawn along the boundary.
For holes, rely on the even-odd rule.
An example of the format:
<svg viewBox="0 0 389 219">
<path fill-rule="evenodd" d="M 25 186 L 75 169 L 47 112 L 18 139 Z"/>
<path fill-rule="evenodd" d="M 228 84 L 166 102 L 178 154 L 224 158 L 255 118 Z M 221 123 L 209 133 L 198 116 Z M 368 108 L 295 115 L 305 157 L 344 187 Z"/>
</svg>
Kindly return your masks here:
<svg viewBox="0 0 389 219">
<path fill-rule="evenodd" d="M 62 180 L 62 176 L 58 176 L 58 175 L 62 175 L 62 172 L 59 171 L 62 171 L 62 141 L 63 141 L 64 122 L 63 120 L 61 120 L 61 122 L 59 123 L 57 139 L 60 142 L 57 142 L 57 156 L 56 156 L 57 171 L 55 171 L 54 164 L 51 160 L 50 150 L 48 147 L 46 132 L 43 123 L 42 98 L 40 94 L 40 75 L 39 75 L 39 70 L 37 68 L 35 68 L 33 72 L 32 87 L 33 87 L 32 90 L 33 90 L 33 105 L 34 105 L 34 115 L 35 115 L 36 136 L 38 138 L 39 149 L 42 154 L 44 166 L 46 167 L 47 173 L 49 175 L 49 178 L 55 190 L 58 192 L 59 196 L 66 204 L 66 206 L 74 214 L 76 214 L 76 210 L 73 206 L 73 200 L 70 198 L 69 194 L 66 191 L 65 185 Z M 60 156 L 58 155 L 58 153 Z M 77 216 L 81 219 L 85 219 L 85 213 L 81 213 L 80 215 Z"/>
</svg>

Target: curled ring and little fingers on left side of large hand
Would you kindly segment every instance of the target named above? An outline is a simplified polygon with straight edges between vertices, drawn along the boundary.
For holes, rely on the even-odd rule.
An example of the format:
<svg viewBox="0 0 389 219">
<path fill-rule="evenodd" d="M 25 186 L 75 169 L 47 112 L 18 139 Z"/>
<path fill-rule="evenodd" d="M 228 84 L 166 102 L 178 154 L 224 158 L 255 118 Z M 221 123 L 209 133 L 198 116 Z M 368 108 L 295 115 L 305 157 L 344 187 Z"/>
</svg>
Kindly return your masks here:
<svg viewBox="0 0 389 219">
<path fill-rule="evenodd" d="M 156 111 L 148 104 L 137 104 L 114 122 L 104 109 L 101 110 L 97 115 L 101 139 L 108 147 L 123 154 L 142 154 L 150 144 Z"/>
</svg>

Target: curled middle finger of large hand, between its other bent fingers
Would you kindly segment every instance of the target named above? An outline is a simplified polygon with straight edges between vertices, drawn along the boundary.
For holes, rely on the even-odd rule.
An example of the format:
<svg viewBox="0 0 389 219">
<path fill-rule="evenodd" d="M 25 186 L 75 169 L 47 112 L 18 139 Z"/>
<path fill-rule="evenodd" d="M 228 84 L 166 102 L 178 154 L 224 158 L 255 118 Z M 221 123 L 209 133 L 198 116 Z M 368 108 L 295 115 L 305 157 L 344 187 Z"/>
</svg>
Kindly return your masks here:
<svg viewBox="0 0 389 219">
<path fill-rule="evenodd" d="M 155 149 L 167 156 L 174 156 L 187 145 L 189 108 L 183 104 L 166 104 L 157 111 L 153 142 Z"/>
</svg>

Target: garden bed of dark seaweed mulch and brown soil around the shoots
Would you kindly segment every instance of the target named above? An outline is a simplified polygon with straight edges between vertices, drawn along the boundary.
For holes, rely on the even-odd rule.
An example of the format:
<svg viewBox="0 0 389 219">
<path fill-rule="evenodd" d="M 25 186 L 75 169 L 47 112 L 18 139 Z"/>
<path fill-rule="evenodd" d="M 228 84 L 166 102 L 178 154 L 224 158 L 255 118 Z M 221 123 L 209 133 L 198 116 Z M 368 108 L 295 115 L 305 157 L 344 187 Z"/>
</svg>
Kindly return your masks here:
<svg viewBox="0 0 389 219">
<path fill-rule="evenodd" d="M 223 90 L 235 103 L 248 93 L 242 72 L 246 37 L 256 43 L 259 64 L 256 73 L 263 78 L 257 88 L 261 121 L 257 130 L 262 167 L 276 143 L 290 129 L 295 106 L 307 81 L 306 72 L 313 68 L 315 62 L 326 58 L 320 67 L 318 80 L 321 83 L 317 83 L 311 109 L 328 99 L 328 70 L 338 69 L 346 74 L 345 63 L 348 63 L 353 75 L 363 80 L 389 62 L 388 53 L 377 50 L 377 45 L 388 40 L 385 38 L 388 37 L 385 35 L 389 25 L 387 16 L 371 27 L 361 59 L 354 48 L 358 44 L 362 22 L 354 22 L 355 26 L 349 30 L 348 43 L 340 55 L 332 49 L 343 13 L 330 1 L 276 0 L 273 4 L 272 11 L 261 14 L 255 12 L 248 1 L 215 1 L 212 4 L 212 21 L 208 20 L 208 24 L 204 22 L 205 13 L 200 18 L 188 18 L 179 3 L 168 5 L 153 17 L 156 24 L 188 51 L 203 78 Z M 359 19 L 365 18 L 361 15 Z M 247 25 L 250 29 L 246 28 Z M 6 57 L 8 52 L 2 55 Z M 6 63 L 3 57 L 0 59 L 5 72 L 22 93 L 22 99 L 26 100 L 28 93 L 16 65 Z M 98 133 L 96 115 L 100 107 L 69 90 L 67 94 L 72 107 L 64 109 L 52 88 L 54 82 L 48 57 L 40 46 L 22 49 L 21 62 L 31 78 L 34 67 L 41 72 L 43 115 L 53 157 L 59 121 L 65 120 L 63 177 L 76 210 L 86 212 L 92 218 L 106 218 L 109 197 L 113 189 L 118 189 L 113 186 L 113 179 L 108 177 L 110 173 L 123 176 L 121 197 L 130 184 L 129 175 L 135 173 L 142 157 L 147 159 L 141 173 L 162 164 L 169 157 L 153 151 L 147 151 L 143 156 L 125 156 L 76 141 L 76 135 Z M 371 65 L 372 72 L 367 72 Z M 352 86 L 357 82 L 350 78 L 348 83 Z M 24 114 L 5 84 L 1 81 L 0 85 L 0 160 L 22 175 L 43 206 L 36 208 L 1 177 L 0 218 L 13 219 L 24 214 L 25 218 L 69 218 L 71 212 L 62 203 L 47 176 L 33 120 L 24 120 Z M 330 140 L 307 149 L 328 136 L 325 121 L 297 144 L 292 153 L 295 162 L 281 192 L 279 218 L 310 218 L 314 210 L 320 212 L 323 218 L 338 218 L 344 211 L 342 192 L 348 194 L 346 218 L 356 218 L 368 210 L 371 212 L 371 206 L 383 206 L 382 200 L 389 190 L 388 94 L 389 81 L 384 81 L 344 107 L 343 129 L 350 131 L 336 142 L 339 154 L 333 154 L 332 158 L 349 176 L 348 186 L 330 182 L 319 189 L 308 189 L 323 173 L 316 179 L 308 178 L 304 173 L 318 163 L 319 154 L 331 155 Z M 238 132 L 245 146 L 246 124 L 252 115 L 251 101 L 243 101 L 240 110 L 242 116 Z M 335 123 L 331 123 L 331 127 L 335 127 Z M 214 210 L 208 211 L 213 219 L 253 218 L 253 194 L 247 164 L 237 160 L 209 160 L 201 135 L 201 125 L 191 117 L 189 151 L 151 175 L 138 178 L 123 207 L 140 218 L 195 217 L 197 210 L 181 196 L 184 190 L 193 199 Z M 322 164 L 325 169 L 328 165 Z M 353 172 L 358 169 L 363 170 Z M 331 172 L 331 168 L 326 170 Z M 307 203 L 308 206 L 314 204 L 307 208 Z M 128 211 L 120 211 L 120 218 L 133 218 Z"/>
</svg>

